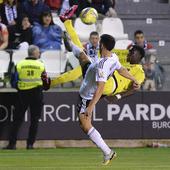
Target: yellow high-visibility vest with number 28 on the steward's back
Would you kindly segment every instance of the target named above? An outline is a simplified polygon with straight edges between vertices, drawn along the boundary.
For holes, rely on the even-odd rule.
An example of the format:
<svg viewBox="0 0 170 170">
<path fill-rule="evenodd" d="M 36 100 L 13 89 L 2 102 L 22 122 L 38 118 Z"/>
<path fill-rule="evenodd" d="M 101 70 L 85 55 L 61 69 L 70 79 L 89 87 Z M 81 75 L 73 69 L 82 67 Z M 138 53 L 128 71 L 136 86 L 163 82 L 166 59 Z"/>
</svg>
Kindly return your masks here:
<svg viewBox="0 0 170 170">
<path fill-rule="evenodd" d="M 19 90 L 29 90 L 42 86 L 41 74 L 45 67 L 40 60 L 24 59 L 17 64 L 16 68 L 19 76 Z"/>
</svg>

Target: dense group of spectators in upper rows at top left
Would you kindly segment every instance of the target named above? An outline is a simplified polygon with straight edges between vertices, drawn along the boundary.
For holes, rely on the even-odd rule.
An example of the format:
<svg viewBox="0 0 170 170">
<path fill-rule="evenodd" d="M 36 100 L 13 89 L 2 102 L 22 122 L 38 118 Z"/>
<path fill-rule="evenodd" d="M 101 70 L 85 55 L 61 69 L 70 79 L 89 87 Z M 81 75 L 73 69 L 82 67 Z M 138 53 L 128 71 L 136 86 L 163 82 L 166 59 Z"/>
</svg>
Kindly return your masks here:
<svg viewBox="0 0 170 170">
<path fill-rule="evenodd" d="M 51 11 L 60 14 L 73 4 L 79 4 L 77 16 L 88 6 L 101 15 L 114 15 L 113 0 L 4 0 L 0 5 L 0 49 L 27 49 L 34 44 L 41 51 L 60 50 L 62 30 L 54 24 Z"/>
</svg>

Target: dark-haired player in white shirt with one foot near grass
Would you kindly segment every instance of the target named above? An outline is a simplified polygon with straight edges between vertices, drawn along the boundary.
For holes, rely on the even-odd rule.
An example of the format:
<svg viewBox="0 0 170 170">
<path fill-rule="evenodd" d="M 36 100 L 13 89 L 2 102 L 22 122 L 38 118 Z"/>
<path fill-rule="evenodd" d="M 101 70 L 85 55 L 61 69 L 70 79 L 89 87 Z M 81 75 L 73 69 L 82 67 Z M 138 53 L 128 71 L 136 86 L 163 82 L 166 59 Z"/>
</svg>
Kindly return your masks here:
<svg viewBox="0 0 170 170">
<path fill-rule="evenodd" d="M 107 165 L 111 159 L 116 156 L 116 152 L 108 147 L 100 133 L 93 127 L 91 123 L 92 111 L 102 96 L 105 82 L 112 76 L 115 70 L 122 76 L 130 79 L 133 82 L 134 87 L 139 85 L 127 69 L 121 66 L 117 55 L 112 53 L 111 50 L 115 46 L 115 39 L 111 35 L 103 34 L 100 37 L 99 46 L 101 58 L 94 63 L 91 63 L 89 57 L 82 49 L 74 44 L 72 44 L 72 50 L 74 55 L 79 59 L 84 73 L 77 105 L 80 127 L 93 143 L 101 149 L 104 155 L 103 164 Z"/>
</svg>

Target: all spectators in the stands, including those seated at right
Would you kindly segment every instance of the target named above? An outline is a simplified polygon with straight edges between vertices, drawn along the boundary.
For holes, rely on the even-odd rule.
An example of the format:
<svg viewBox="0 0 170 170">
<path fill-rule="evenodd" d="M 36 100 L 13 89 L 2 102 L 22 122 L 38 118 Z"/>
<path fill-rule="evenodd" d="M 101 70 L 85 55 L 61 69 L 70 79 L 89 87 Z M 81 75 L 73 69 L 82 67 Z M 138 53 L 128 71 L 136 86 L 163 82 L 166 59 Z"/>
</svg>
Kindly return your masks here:
<svg viewBox="0 0 170 170">
<path fill-rule="evenodd" d="M 63 30 L 54 24 L 52 12 L 62 14 L 74 4 L 79 5 L 75 17 L 89 6 L 95 8 L 101 18 L 117 16 L 115 0 L 0 0 L 0 50 L 28 49 L 31 44 L 37 45 L 41 51 L 61 50 Z M 95 56 L 98 37 L 97 32 L 90 34 L 90 42 L 85 44 L 89 55 Z M 161 89 L 164 70 L 154 47 L 146 41 L 141 30 L 134 33 L 134 42 L 127 48 L 133 44 L 146 51 L 142 62 L 146 73 L 143 90 Z"/>
</svg>

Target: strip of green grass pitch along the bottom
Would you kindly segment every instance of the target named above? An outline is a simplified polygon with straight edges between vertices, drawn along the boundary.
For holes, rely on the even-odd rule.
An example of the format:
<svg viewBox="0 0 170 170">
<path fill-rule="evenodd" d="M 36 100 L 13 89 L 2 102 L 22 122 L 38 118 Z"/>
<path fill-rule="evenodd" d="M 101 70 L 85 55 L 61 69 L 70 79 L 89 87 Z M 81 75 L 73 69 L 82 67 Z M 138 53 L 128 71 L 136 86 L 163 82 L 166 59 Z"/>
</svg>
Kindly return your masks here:
<svg viewBox="0 0 170 170">
<path fill-rule="evenodd" d="M 115 150 L 108 166 L 97 148 L 1 150 L 0 170 L 170 170 L 170 148 Z"/>
</svg>

